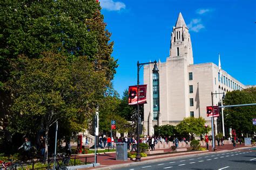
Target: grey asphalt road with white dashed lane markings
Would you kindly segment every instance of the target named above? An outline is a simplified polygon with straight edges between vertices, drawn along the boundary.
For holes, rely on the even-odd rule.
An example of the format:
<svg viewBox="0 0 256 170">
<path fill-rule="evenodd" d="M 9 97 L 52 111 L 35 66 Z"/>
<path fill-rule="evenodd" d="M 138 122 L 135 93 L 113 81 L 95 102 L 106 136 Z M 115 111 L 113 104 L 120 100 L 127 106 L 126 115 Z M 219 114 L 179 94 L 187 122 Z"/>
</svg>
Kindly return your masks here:
<svg viewBox="0 0 256 170">
<path fill-rule="evenodd" d="M 173 158 L 139 166 L 120 169 L 256 169 L 256 151 L 234 150 L 221 153 L 209 153 L 184 158 Z"/>
</svg>

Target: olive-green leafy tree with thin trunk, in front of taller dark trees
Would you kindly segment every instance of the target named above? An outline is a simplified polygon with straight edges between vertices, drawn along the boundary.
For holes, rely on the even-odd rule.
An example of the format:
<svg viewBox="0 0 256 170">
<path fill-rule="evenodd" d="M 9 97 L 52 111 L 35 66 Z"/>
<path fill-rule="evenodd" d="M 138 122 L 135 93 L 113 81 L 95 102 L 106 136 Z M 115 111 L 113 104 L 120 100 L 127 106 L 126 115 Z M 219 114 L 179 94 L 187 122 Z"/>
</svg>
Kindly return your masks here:
<svg viewBox="0 0 256 170">
<path fill-rule="evenodd" d="M 104 72 L 93 71 L 95 65 L 85 56 L 72 61 L 55 53 L 43 53 L 39 59 L 21 56 L 11 67 L 11 79 L 5 86 L 14 101 L 10 131 L 44 129 L 47 156 L 49 129 L 56 121 L 65 122 L 71 131 L 87 128 L 107 80 Z"/>
</svg>

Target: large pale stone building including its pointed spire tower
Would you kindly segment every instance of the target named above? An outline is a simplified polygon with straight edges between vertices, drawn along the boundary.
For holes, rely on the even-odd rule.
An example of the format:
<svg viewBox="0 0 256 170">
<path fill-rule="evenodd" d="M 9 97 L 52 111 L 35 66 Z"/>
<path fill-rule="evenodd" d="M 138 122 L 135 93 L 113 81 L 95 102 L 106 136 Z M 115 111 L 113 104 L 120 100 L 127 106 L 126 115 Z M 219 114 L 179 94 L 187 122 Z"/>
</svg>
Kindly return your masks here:
<svg viewBox="0 0 256 170">
<path fill-rule="evenodd" d="M 211 92 L 245 88 L 224 70 L 220 76 L 218 66 L 212 62 L 194 65 L 192 41 L 181 13 L 171 33 L 170 56 L 157 65 L 158 73 L 152 72 L 153 65 L 144 66 L 144 84 L 147 84 L 145 134 L 154 134 L 154 125 L 177 125 L 190 116 L 201 116 L 211 125 L 211 118 L 206 117 L 206 106 L 212 105 Z M 221 97 L 221 94 L 213 95 L 213 105 L 217 105 Z"/>
</svg>

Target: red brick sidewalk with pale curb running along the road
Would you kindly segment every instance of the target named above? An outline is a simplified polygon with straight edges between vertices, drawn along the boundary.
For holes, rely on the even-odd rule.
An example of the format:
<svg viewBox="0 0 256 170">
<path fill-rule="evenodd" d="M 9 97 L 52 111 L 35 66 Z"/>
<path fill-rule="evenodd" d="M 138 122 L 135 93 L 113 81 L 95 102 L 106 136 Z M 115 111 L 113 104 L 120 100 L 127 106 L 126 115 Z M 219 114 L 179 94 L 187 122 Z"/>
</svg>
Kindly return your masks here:
<svg viewBox="0 0 256 170">
<path fill-rule="evenodd" d="M 224 146 L 216 146 L 217 147 L 217 151 L 215 152 L 224 152 L 224 151 L 229 151 L 229 150 L 234 150 L 233 148 L 233 144 L 226 144 Z M 248 146 L 245 146 L 244 143 L 243 144 L 237 144 L 237 147 L 235 149 L 242 149 Z M 158 149 L 158 150 L 164 150 L 164 152 L 171 152 L 171 149 Z M 146 158 L 142 158 L 141 162 L 144 161 L 153 161 L 161 158 L 161 159 L 167 159 L 167 158 L 171 158 L 171 157 L 177 157 L 178 155 L 192 155 L 192 154 L 203 154 L 203 153 L 209 153 L 212 152 L 212 146 L 209 146 L 209 150 L 208 151 L 194 151 L 194 152 L 183 152 L 183 153 L 172 153 L 172 154 L 165 154 L 165 155 L 155 155 L 155 156 L 149 156 Z M 132 161 L 130 159 L 128 159 L 127 161 L 120 161 L 120 160 L 116 160 L 116 153 L 100 153 L 99 155 L 97 155 L 97 163 L 100 164 L 99 167 L 97 168 L 113 168 L 113 166 L 122 166 L 120 164 L 123 164 L 123 166 L 127 166 L 129 164 L 132 164 L 135 161 Z M 138 163 L 138 162 L 136 162 Z M 82 170 L 85 168 L 79 168 L 79 170 Z M 95 169 L 94 167 L 91 167 L 89 169 Z"/>
</svg>

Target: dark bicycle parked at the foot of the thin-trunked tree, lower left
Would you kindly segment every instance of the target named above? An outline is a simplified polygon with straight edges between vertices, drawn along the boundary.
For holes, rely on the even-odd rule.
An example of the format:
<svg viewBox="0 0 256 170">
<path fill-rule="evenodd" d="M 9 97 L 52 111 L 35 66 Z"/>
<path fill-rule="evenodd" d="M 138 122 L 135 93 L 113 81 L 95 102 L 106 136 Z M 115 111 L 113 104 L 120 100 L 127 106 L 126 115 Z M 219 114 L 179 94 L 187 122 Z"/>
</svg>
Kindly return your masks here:
<svg viewBox="0 0 256 170">
<path fill-rule="evenodd" d="M 60 155 L 60 154 L 52 154 L 54 159 L 52 159 L 49 164 L 48 164 L 48 169 L 64 169 L 64 170 L 69 170 L 71 169 L 71 161 L 69 157 L 65 157 L 65 155 Z M 62 158 L 62 160 L 58 158 Z"/>
</svg>

